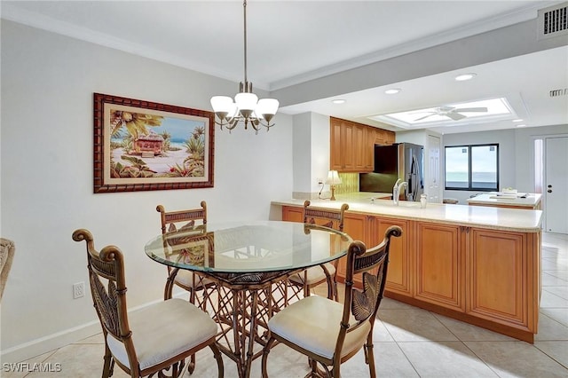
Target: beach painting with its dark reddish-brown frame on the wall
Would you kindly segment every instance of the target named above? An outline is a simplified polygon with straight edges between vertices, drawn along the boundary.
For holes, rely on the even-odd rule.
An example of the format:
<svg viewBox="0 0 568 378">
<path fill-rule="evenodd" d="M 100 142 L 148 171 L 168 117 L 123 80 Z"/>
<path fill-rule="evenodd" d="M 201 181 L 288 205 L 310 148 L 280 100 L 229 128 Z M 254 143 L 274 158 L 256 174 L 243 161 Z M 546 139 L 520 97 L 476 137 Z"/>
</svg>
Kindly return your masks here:
<svg viewBox="0 0 568 378">
<path fill-rule="evenodd" d="M 212 187 L 214 117 L 94 93 L 94 193 Z"/>
</svg>

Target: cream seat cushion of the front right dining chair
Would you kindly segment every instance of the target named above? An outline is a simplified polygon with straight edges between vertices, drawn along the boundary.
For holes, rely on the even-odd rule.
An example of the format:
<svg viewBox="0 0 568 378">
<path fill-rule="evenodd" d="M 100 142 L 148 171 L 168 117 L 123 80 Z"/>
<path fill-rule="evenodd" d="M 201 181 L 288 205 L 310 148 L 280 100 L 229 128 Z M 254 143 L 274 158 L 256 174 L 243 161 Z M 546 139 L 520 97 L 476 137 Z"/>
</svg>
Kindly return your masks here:
<svg viewBox="0 0 568 378">
<path fill-rule="evenodd" d="M 311 295 L 276 313 L 268 321 L 268 328 L 272 333 L 305 350 L 325 358 L 333 358 L 342 316 L 343 303 Z M 356 323 L 351 317 L 350 324 Z M 370 330 L 371 323 L 367 321 L 348 333 L 343 343 L 342 357 L 353 350 L 359 350 L 367 341 Z"/>
</svg>

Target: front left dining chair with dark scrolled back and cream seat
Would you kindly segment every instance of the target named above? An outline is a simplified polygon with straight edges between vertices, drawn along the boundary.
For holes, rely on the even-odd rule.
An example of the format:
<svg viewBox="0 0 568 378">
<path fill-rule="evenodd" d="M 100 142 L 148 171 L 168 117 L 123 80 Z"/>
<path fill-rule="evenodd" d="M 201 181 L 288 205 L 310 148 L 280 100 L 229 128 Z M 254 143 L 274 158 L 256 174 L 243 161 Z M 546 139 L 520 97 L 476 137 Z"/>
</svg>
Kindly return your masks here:
<svg viewBox="0 0 568 378">
<path fill-rule="evenodd" d="M 115 246 L 95 249 L 91 232 L 78 229 L 73 240 L 87 244 L 87 269 L 91 295 L 105 337 L 103 378 L 118 365 L 131 377 L 184 374 L 185 358 L 207 346 L 217 359 L 217 373 L 224 375 L 217 348 L 217 323 L 193 303 L 172 298 L 128 311 L 124 257 Z"/>
</svg>

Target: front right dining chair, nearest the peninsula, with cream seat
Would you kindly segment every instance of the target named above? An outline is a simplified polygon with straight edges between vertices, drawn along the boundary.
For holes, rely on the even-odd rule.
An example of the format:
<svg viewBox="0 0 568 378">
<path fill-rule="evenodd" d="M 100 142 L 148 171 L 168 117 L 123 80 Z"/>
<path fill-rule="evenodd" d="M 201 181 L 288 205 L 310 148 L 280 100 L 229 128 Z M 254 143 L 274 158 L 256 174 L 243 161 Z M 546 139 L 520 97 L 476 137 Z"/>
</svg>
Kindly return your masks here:
<svg viewBox="0 0 568 378">
<path fill-rule="evenodd" d="M 390 238 L 400 235 L 400 227 L 390 226 L 383 241 L 374 248 L 367 250 L 359 240 L 351 242 L 343 303 L 319 295 L 307 296 L 277 312 L 268 321 L 270 336 L 263 350 L 263 377 L 268 376 L 268 354 L 276 341 L 306 355 L 312 375 L 325 373 L 328 377 L 339 377 L 341 364 L 363 348 L 370 376 L 376 376 L 373 327 L 383 299 Z M 353 276 L 359 273 L 363 274 L 363 291 L 353 288 Z"/>
</svg>

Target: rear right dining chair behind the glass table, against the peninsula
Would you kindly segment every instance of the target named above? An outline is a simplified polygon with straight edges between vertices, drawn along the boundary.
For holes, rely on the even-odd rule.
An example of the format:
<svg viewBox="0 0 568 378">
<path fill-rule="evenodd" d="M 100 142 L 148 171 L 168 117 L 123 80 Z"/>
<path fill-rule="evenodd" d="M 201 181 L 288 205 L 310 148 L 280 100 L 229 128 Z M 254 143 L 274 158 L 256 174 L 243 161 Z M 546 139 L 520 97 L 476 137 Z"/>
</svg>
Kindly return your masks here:
<svg viewBox="0 0 568 378">
<path fill-rule="evenodd" d="M 304 201 L 304 223 L 319 224 L 338 231 L 343 231 L 343 219 L 345 211 L 349 209 L 347 203 L 343 203 L 340 209 L 326 209 L 311 206 L 310 201 Z M 332 263 L 312 266 L 304 272 L 299 272 L 288 279 L 293 290 L 291 296 L 298 296 L 298 287 L 304 291 L 304 297 L 310 296 L 312 288 L 327 282 L 327 297 L 337 300 L 337 282 L 335 272 L 337 260 Z M 296 288 L 296 290 L 294 290 Z"/>
</svg>

